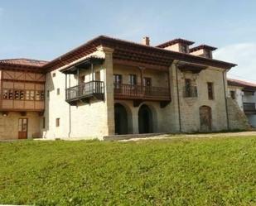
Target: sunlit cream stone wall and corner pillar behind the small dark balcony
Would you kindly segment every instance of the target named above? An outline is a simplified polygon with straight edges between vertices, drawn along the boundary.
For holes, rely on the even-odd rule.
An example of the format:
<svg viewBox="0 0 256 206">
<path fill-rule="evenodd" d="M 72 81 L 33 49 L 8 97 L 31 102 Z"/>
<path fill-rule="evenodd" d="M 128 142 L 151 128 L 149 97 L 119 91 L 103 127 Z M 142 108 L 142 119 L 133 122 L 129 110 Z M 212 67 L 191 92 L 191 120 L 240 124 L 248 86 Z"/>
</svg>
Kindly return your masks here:
<svg viewBox="0 0 256 206">
<path fill-rule="evenodd" d="M 104 101 L 93 99 L 90 103 L 70 106 L 65 102 L 65 74 L 60 73 L 61 68 L 46 74 L 46 93 L 49 90 L 50 96 L 46 97 L 46 128 L 42 130 L 43 137 L 101 138 L 114 134 L 112 52 L 113 50 L 108 48 L 99 48 L 97 55 L 104 55 L 105 61 L 104 65 L 94 68 L 100 72 L 100 80 L 105 83 Z M 68 87 L 77 85 L 76 75 L 68 75 L 67 82 Z M 57 89 L 60 89 L 59 95 L 56 93 Z M 60 118 L 60 127 L 56 127 L 56 118 Z"/>
</svg>

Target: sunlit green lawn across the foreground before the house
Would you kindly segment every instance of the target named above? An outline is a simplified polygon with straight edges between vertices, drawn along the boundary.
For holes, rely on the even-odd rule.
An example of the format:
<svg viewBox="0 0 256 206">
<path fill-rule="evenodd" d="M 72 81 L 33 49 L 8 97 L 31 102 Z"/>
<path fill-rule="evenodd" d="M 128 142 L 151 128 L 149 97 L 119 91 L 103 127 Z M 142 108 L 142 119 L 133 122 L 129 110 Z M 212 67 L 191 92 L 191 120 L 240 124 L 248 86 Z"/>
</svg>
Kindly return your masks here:
<svg viewBox="0 0 256 206">
<path fill-rule="evenodd" d="M 256 137 L 2 142 L 0 204 L 256 205 Z"/>
</svg>

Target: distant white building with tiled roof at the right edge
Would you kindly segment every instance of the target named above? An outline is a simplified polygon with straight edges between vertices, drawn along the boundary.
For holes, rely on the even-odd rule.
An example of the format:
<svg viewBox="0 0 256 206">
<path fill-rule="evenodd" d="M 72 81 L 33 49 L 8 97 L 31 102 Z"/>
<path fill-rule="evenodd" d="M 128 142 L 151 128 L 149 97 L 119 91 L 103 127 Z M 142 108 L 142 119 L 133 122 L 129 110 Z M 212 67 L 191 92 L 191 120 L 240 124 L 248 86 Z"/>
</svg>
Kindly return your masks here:
<svg viewBox="0 0 256 206">
<path fill-rule="evenodd" d="M 256 84 L 228 79 L 229 95 L 239 104 L 252 127 L 256 127 Z"/>
</svg>

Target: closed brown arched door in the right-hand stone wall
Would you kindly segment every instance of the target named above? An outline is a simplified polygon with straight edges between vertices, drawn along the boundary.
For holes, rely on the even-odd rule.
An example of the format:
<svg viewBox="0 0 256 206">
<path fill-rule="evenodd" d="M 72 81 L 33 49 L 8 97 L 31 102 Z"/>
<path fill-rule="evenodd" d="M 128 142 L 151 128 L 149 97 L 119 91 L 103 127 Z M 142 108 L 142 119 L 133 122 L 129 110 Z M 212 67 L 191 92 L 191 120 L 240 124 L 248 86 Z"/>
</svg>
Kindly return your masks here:
<svg viewBox="0 0 256 206">
<path fill-rule="evenodd" d="M 201 106 L 199 108 L 200 113 L 200 131 L 211 131 L 211 108 L 208 106 Z"/>
</svg>

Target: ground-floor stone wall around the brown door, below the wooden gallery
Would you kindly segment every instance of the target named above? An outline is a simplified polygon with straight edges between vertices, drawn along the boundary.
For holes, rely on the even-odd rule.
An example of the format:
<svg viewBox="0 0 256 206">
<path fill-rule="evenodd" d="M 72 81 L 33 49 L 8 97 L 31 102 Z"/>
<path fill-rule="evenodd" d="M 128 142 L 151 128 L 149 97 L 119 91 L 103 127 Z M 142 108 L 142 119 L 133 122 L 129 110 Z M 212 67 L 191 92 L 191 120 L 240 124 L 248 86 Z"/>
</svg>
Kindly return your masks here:
<svg viewBox="0 0 256 206">
<path fill-rule="evenodd" d="M 39 113 L 8 113 L 7 117 L 0 114 L 0 140 L 11 140 L 18 138 L 19 118 L 27 118 L 27 138 L 41 137 L 42 117 Z"/>
</svg>

